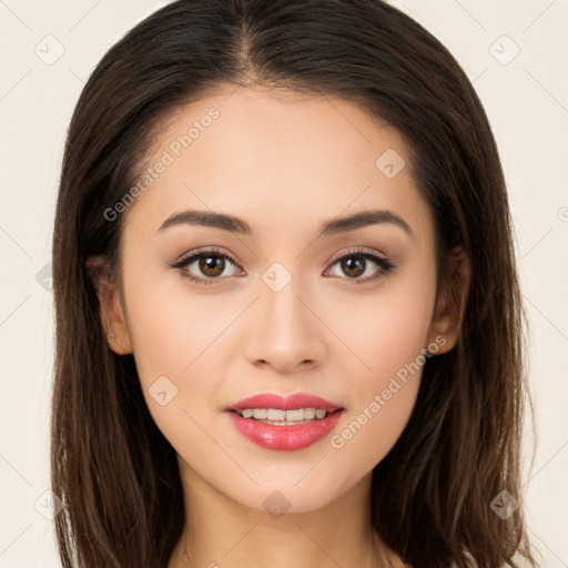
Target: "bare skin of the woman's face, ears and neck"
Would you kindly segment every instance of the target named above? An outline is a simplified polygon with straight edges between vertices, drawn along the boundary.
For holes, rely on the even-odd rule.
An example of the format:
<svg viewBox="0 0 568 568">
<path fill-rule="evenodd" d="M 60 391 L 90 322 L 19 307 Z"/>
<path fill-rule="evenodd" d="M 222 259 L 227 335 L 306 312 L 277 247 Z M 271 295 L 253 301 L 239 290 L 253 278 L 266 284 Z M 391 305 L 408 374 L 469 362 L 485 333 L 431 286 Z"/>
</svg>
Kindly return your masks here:
<svg viewBox="0 0 568 568">
<path fill-rule="evenodd" d="M 422 349 L 434 343 L 445 353 L 458 336 L 462 311 L 449 310 L 444 288 L 436 304 L 433 216 L 408 151 L 352 102 L 224 85 L 169 116 L 149 163 L 212 106 L 219 119 L 123 213 L 121 282 L 98 282 L 109 345 L 134 354 L 150 412 L 178 453 L 191 535 L 184 531 L 169 568 L 187 566 L 185 548 L 191 566 L 241 568 L 251 558 L 272 568 L 403 566 L 394 555 L 392 564 L 378 560 L 389 551 L 365 519 L 373 467 L 408 422 L 422 367 L 343 447 L 329 439 Z M 407 164 L 393 179 L 375 165 L 388 149 Z M 191 225 L 158 232 L 186 209 L 236 215 L 255 234 Z M 414 236 L 383 223 L 317 237 L 324 220 L 372 209 L 396 213 Z M 226 260 L 215 284 L 183 277 L 207 278 L 197 262 L 168 267 L 209 246 L 239 263 Z M 357 284 L 336 262 L 354 247 L 386 255 L 396 268 L 381 274 L 367 261 L 356 278 L 381 275 Z M 262 280 L 274 262 L 292 276 L 280 292 Z M 457 268 L 465 291 L 467 262 Z M 149 388 L 163 375 L 178 394 L 161 406 Z M 270 450 L 237 433 L 223 410 L 262 392 L 308 392 L 346 412 L 311 447 Z M 263 506 L 276 490 L 290 503 L 278 518 Z"/>
</svg>

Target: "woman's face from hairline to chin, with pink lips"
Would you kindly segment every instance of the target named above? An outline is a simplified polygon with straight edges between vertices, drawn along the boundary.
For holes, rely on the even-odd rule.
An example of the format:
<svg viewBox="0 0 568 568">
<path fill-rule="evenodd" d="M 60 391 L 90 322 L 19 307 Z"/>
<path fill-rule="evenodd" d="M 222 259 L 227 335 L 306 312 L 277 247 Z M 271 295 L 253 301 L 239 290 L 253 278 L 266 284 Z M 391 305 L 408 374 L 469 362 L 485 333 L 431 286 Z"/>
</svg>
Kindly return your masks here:
<svg viewBox="0 0 568 568">
<path fill-rule="evenodd" d="M 402 434 L 426 348 L 453 343 L 407 149 L 342 99 L 227 87 L 171 115 L 146 166 L 135 201 L 115 210 L 111 347 L 133 352 L 182 477 L 258 510 L 276 490 L 292 513 L 324 507 Z M 327 417 L 267 425 L 270 398 L 241 405 L 258 418 L 227 410 L 298 393 L 325 399 Z"/>
</svg>

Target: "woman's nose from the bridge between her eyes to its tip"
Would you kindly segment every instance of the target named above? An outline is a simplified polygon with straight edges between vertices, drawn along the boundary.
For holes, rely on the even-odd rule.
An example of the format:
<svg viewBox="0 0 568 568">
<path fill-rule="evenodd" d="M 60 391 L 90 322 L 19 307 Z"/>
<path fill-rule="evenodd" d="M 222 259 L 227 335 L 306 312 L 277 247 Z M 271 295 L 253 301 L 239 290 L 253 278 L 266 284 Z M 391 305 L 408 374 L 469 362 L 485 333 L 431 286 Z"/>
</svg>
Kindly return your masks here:
<svg viewBox="0 0 568 568">
<path fill-rule="evenodd" d="M 253 363 L 265 361 L 284 371 L 323 357 L 322 324 L 306 307 L 312 303 L 311 286 L 302 274 L 293 273 L 296 266 L 288 270 L 274 262 L 261 276 L 254 331 L 247 344 L 247 357 Z"/>
</svg>

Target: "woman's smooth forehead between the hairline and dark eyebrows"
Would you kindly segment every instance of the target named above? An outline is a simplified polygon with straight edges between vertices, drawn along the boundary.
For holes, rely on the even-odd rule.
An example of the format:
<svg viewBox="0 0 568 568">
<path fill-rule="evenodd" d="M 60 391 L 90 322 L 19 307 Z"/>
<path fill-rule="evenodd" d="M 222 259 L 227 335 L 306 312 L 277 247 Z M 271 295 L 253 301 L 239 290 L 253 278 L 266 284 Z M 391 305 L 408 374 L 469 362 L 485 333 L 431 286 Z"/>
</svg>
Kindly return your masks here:
<svg viewBox="0 0 568 568">
<path fill-rule="evenodd" d="M 155 230 L 184 206 L 317 226 L 382 207 L 428 230 L 402 136 L 337 97 L 223 85 L 169 114 L 152 142 L 144 169 L 166 165 L 128 214 Z"/>
</svg>

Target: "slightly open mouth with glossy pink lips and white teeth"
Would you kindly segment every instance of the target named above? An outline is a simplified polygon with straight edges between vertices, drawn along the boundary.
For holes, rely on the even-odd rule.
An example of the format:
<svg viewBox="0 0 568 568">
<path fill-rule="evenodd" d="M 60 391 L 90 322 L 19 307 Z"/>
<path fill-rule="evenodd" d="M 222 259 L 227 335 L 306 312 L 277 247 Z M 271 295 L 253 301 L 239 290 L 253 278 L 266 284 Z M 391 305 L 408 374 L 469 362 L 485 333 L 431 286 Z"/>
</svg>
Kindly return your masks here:
<svg viewBox="0 0 568 568">
<path fill-rule="evenodd" d="M 306 393 L 271 393 L 225 408 L 243 436 L 266 449 L 296 450 L 315 444 L 337 424 L 345 408 Z"/>
</svg>

